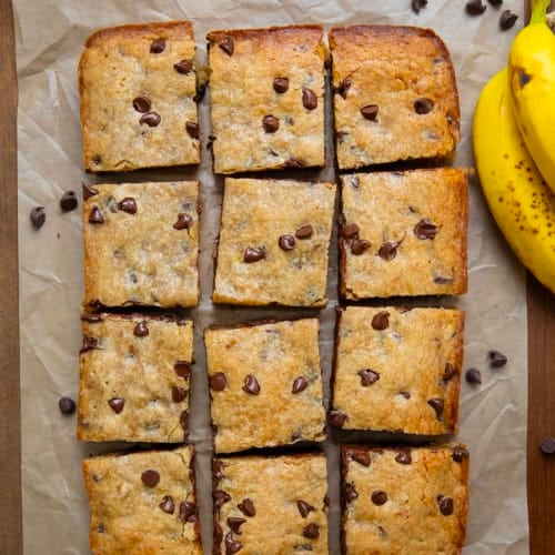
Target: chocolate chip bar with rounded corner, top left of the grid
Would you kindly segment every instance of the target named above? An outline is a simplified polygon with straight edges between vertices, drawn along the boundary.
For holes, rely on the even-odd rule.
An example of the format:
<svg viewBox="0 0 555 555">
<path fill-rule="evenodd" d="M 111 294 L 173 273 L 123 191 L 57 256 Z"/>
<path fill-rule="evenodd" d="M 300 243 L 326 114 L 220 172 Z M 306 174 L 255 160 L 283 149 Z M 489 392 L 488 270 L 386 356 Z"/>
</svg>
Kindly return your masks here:
<svg viewBox="0 0 555 555">
<path fill-rule="evenodd" d="M 102 29 L 79 64 L 84 169 L 129 171 L 200 162 L 193 26 Z"/>
</svg>

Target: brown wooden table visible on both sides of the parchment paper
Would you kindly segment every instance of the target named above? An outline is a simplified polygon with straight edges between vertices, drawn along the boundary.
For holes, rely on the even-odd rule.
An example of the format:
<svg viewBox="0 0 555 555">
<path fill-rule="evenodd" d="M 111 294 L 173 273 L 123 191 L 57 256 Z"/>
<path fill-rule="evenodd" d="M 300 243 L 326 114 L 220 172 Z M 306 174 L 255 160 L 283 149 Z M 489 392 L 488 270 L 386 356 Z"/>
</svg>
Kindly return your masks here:
<svg viewBox="0 0 555 555">
<path fill-rule="evenodd" d="M 22 553 L 18 331 L 17 79 L 11 0 L 0 0 L 0 554 Z M 555 295 L 528 274 L 531 552 L 555 553 Z"/>
</svg>

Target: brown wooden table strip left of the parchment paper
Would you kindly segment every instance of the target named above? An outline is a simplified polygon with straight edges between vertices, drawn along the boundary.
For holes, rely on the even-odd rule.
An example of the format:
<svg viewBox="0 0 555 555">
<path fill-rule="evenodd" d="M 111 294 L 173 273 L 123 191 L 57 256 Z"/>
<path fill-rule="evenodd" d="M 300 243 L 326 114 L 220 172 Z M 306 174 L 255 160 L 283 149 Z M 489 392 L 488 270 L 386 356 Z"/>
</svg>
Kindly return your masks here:
<svg viewBox="0 0 555 555">
<path fill-rule="evenodd" d="M 19 408 L 16 53 L 11 1 L 0 0 L 0 553 L 22 553 Z"/>
</svg>

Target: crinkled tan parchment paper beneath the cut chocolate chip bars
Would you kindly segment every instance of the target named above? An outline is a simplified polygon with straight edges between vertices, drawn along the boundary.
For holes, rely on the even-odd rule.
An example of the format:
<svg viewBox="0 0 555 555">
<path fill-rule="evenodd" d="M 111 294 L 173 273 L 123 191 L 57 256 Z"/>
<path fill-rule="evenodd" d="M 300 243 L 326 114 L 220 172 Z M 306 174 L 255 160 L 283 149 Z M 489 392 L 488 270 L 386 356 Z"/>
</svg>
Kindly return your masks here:
<svg viewBox="0 0 555 555">
<path fill-rule="evenodd" d="M 322 22 L 390 23 L 431 27 L 444 38 L 456 67 L 462 102 L 463 140 L 456 165 L 472 165 L 470 138 L 473 108 L 487 79 L 504 65 L 508 46 L 522 26 L 523 2 L 503 9 L 521 14 L 511 31 L 498 30 L 501 12 L 491 6 L 478 18 L 467 17 L 460 0 L 430 0 L 418 16 L 410 0 L 16 0 L 19 71 L 19 216 L 21 279 L 21 393 L 23 436 L 24 553 L 85 554 L 89 514 L 81 477 L 81 458 L 121 445 L 79 444 L 73 417 L 61 416 L 61 395 L 77 397 L 82 299 L 80 212 L 62 214 L 59 199 L 67 190 L 80 194 L 81 182 L 94 182 L 81 168 L 81 138 L 75 70 L 82 44 L 95 29 L 130 22 L 190 19 L 194 22 L 198 61 L 205 62 L 204 37 L 229 27 L 266 27 Z M 208 99 L 201 104 L 202 137 L 206 138 Z M 204 140 L 205 142 L 205 140 Z M 332 158 L 329 157 L 331 160 Z M 233 310 L 213 307 L 212 252 L 218 234 L 222 181 L 210 172 L 210 155 L 194 171 L 138 172 L 102 180 L 202 181 L 202 301 L 190 312 L 195 321 L 191 437 L 200 452 L 198 476 L 202 532 L 210 553 L 210 431 L 202 330 L 211 322 L 310 314 L 312 311 Z M 329 167 L 314 179 L 334 179 Z M 470 292 L 464 297 L 421 299 L 411 304 L 460 306 L 467 311 L 465 365 L 482 370 L 483 384 L 463 381 L 461 433 L 472 455 L 471 513 L 465 553 L 521 554 L 528 551 L 526 512 L 526 304 L 524 272 L 493 225 L 480 186 L 471 188 Z M 46 206 L 47 223 L 32 230 L 29 212 Z M 336 233 L 336 232 L 335 232 Z M 325 382 L 331 371 L 336 252 L 331 252 L 329 307 L 320 313 L 321 354 Z M 386 303 L 386 301 L 384 301 Z M 492 371 L 488 349 L 507 354 L 506 367 Z M 329 396 L 329 387 L 325 390 Z M 329 454 L 330 551 L 339 553 L 339 471 L 336 435 Z"/>
</svg>

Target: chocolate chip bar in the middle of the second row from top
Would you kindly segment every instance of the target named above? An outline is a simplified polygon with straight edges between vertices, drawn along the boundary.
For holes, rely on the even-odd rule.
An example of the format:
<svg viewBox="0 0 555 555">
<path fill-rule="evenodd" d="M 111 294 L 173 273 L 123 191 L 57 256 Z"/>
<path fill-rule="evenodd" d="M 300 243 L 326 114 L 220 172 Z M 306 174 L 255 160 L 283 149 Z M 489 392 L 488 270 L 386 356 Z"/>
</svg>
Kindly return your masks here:
<svg viewBox="0 0 555 555">
<path fill-rule="evenodd" d="M 335 185 L 225 180 L 214 303 L 325 306 Z"/>
</svg>

